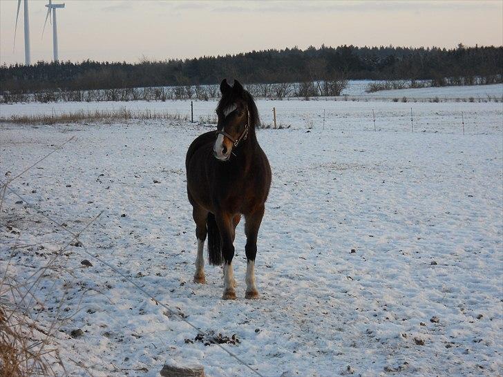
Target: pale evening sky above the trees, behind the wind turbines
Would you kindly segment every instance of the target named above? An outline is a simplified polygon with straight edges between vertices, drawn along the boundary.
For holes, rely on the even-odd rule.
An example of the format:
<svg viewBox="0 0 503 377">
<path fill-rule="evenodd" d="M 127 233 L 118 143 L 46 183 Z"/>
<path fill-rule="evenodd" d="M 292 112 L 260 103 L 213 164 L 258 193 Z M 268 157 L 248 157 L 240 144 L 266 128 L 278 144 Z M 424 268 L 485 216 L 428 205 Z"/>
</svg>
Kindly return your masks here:
<svg viewBox="0 0 503 377">
<path fill-rule="evenodd" d="M 130 61 L 298 46 L 503 45 L 503 1 L 55 0 L 59 59 Z M 29 0 L 32 63 L 53 57 L 47 8 Z M 0 63 L 23 63 L 23 4 L 0 0 Z"/>
</svg>

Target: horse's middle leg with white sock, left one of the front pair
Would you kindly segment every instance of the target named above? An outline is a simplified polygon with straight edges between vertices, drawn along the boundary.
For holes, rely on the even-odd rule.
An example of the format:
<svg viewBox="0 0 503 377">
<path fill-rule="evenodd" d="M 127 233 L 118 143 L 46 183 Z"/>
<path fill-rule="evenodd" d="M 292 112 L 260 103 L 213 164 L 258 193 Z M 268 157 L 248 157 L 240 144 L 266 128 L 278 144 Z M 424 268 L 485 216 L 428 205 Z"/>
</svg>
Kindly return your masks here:
<svg viewBox="0 0 503 377">
<path fill-rule="evenodd" d="M 229 213 L 219 213 L 215 216 L 220 236 L 222 237 L 222 255 L 224 257 L 224 300 L 235 300 L 236 289 L 232 258 L 234 258 L 234 223 L 233 216 Z"/>
</svg>

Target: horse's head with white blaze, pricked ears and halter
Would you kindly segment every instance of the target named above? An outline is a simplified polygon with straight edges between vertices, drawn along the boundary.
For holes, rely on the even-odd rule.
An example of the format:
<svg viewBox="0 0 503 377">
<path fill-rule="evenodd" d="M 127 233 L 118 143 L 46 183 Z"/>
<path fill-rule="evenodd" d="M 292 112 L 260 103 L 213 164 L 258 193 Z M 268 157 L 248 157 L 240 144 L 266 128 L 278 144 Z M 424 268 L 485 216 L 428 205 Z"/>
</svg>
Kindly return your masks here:
<svg viewBox="0 0 503 377">
<path fill-rule="evenodd" d="M 213 145 L 213 155 L 218 160 L 226 161 L 231 157 L 232 149 L 244 143 L 250 129 L 258 124 L 258 112 L 252 95 L 238 80 L 234 80 L 234 86 L 230 86 L 223 79 L 220 92 L 222 98 L 216 108 L 218 137 Z"/>
</svg>

